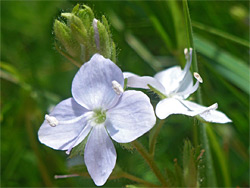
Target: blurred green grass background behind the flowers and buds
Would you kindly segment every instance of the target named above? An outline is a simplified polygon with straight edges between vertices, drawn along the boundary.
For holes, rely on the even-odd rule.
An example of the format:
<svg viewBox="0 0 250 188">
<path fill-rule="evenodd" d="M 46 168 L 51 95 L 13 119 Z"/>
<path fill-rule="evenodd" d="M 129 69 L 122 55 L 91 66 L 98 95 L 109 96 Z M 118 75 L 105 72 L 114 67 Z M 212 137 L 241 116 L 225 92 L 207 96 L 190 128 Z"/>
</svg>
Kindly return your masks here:
<svg viewBox="0 0 250 188">
<path fill-rule="evenodd" d="M 153 76 L 184 66 L 187 34 L 181 1 L 82 1 L 96 18 L 105 14 L 117 45 L 123 71 Z M 249 4 L 247 1 L 190 1 L 204 105 L 219 104 L 231 124 L 209 124 L 216 183 L 219 187 L 249 186 Z M 1 1 L 1 186 L 91 187 L 89 178 L 55 180 L 69 174 L 63 151 L 37 139 L 44 115 L 71 97 L 77 67 L 54 47 L 53 22 L 71 12 L 77 1 Z M 152 102 L 158 98 L 152 93 Z M 193 119 L 172 115 L 164 122 L 156 145 L 159 166 L 173 169 L 182 159 L 185 139 L 195 145 Z M 212 132 L 212 134 L 211 134 Z M 148 142 L 148 134 L 140 138 Z M 198 143 L 199 144 L 199 143 Z M 115 144 L 117 166 L 157 182 L 136 151 Z M 86 170 L 86 169 L 85 169 Z M 201 181 L 203 181 L 201 179 Z M 106 187 L 133 184 L 109 180 Z M 205 185 L 204 185 L 205 186 Z"/>
</svg>

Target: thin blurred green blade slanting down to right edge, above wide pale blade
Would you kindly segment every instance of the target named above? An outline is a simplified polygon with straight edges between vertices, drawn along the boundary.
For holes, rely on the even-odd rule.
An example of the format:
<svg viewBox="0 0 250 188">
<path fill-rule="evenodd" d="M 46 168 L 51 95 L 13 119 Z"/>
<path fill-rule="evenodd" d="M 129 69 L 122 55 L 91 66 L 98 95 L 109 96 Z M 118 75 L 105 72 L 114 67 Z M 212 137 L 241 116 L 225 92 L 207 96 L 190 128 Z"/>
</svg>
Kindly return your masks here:
<svg viewBox="0 0 250 188">
<path fill-rule="evenodd" d="M 238 43 L 238 44 L 241 44 L 247 48 L 250 47 L 250 44 L 248 41 L 244 40 L 244 39 L 241 39 L 239 37 L 236 37 L 234 35 L 231 35 L 229 33 L 226 33 L 224 31 L 220 31 L 218 29 L 215 29 L 213 27 L 210 27 L 210 26 L 207 26 L 207 25 L 204 25 L 202 23 L 199 23 L 199 22 L 196 22 L 196 21 L 192 21 L 192 26 L 197 28 L 197 29 L 200 29 L 200 30 L 203 30 L 203 31 L 206 31 L 208 33 L 211 33 L 211 34 L 214 34 L 214 35 L 217 35 L 217 36 L 220 36 L 220 37 L 223 37 L 225 39 L 228 39 L 228 40 L 231 40 L 235 43 Z"/>
</svg>

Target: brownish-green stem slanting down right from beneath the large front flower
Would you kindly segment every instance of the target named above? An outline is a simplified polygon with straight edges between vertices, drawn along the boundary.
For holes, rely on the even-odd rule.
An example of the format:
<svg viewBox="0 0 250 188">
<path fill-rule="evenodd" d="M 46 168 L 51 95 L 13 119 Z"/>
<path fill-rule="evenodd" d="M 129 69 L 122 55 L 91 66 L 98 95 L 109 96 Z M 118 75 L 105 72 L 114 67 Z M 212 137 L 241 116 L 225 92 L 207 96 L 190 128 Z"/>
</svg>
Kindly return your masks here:
<svg viewBox="0 0 250 188">
<path fill-rule="evenodd" d="M 148 163 L 149 167 L 154 172 L 155 176 L 159 179 L 161 184 L 164 187 L 167 187 L 167 181 L 165 177 L 162 175 L 161 171 L 157 167 L 156 163 L 154 162 L 152 156 L 146 151 L 146 149 L 143 147 L 143 145 L 135 140 L 132 142 L 133 146 L 136 148 L 136 150 L 140 153 L 140 155 L 144 158 L 144 160 Z"/>
</svg>

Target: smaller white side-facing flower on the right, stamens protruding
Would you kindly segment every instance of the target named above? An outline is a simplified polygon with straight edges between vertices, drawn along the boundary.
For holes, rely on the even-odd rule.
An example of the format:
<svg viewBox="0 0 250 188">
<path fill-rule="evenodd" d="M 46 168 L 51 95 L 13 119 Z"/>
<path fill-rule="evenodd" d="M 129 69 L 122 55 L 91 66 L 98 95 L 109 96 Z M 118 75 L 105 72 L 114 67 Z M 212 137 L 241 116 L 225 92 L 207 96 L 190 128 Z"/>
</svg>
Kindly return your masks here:
<svg viewBox="0 0 250 188">
<path fill-rule="evenodd" d="M 152 89 L 158 93 L 162 100 L 156 105 L 156 115 L 165 119 L 171 114 L 184 114 L 188 116 L 200 116 L 208 122 L 227 123 L 231 120 L 222 112 L 217 111 L 218 104 L 204 107 L 194 102 L 185 100 L 194 93 L 202 78 L 194 73 L 196 83 L 193 84 L 192 74 L 189 71 L 192 62 L 192 49 L 184 50 L 187 60 L 185 68 L 174 66 L 157 73 L 154 78 L 149 76 L 137 76 L 133 73 L 124 73 L 128 79 L 127 86 L 134 88 Z"/>
</svg>

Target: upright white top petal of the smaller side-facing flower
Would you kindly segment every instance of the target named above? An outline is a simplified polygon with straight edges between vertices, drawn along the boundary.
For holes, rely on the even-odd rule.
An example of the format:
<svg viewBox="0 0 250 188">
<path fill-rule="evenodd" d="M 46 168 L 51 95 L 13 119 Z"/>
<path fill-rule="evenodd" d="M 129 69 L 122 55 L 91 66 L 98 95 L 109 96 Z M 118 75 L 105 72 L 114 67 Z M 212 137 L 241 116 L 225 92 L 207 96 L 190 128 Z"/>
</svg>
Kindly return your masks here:
<svg viewBox="0 0 250 188">
<path fill-rule="evenodd" d="M 193 86 L 193 78 L 190 72 L 183 79 L 180 66 L 174 66 L 157 73 L 154 78 L 157 79 L 164 87 L 167 96 L 174 95 L 177 92 L 183 92 Z M 183 96 L 187 98 L 188 96 Z"/>
</svg>

